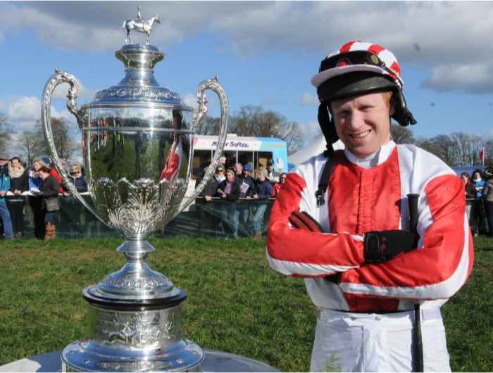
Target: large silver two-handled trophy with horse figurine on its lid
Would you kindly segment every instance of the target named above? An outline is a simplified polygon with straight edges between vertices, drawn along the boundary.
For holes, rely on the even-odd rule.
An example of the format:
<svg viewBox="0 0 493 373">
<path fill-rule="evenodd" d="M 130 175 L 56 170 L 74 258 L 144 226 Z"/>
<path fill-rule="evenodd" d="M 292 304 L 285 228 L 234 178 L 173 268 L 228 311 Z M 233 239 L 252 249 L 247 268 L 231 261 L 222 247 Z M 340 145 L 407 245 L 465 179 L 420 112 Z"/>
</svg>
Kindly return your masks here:
<svg viewBox="0 0 493 373">
<path fill-rule="evenodd" d="M 139 12 L 140 13 L 140 12 Z M 124 28 L 145 32 L 151 20 L 125 21 Z M 91 305 L 92 335 L 70 343 L 61 355 L 64 371 L 146 372 L 201 370 L 203 350 L 180 335 L 180 306 L 187 293 L 146 264 L 154 251 L 146 236 L 163 227 L 189 205 L 213 175 L 225 144 L 228 104 L 217 78 L 197 89 L 199 109 L 186 106 L 180 95 L 160 87 L 153 68 L 164 54 L 149 44 L 127 44 L 115 53 L 125 65 L 117 85 L 99 91 L 94 101 L 78 108 L 79 84 L 73 75 L 56 70 L 44 87 L 42 120 L 51 155 L 70 192 L 104 224 L 126 241 L 121 270 L 82 291 Z M 68 180 L 51 133 L 51 94 L 68 83 L 67 108 L 82 132 L 82 152 L 89 205 Z M 216 92 L 221 125 L 218 147 L 204 179 L 191 195 L 194 129 L 206 111 L 204 91 Z"/>
</svg>

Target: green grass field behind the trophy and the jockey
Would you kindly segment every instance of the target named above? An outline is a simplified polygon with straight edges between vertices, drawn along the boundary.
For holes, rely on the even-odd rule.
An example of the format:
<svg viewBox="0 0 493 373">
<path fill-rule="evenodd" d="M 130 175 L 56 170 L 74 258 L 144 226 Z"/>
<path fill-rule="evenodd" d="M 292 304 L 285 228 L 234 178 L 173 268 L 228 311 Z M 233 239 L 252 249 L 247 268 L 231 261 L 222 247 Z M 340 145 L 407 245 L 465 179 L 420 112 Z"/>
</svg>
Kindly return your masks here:
<svg viewBox="0 0 493 373">
<path fill-rule="evenodd" d="M 87 335 L 83 287 L 120 269 L 121 239 L 0 241 L 0 365 Z M 307 371 L 315 309 L 304 282 L 276 274 L 265 243 L 150 239 L 149 265 L 189 293 L 182 333 L 204 348 Z M 493 371 L 493 240 L 475 239 L 473 274 L 442 308 L 454 371 Z"/>
</svg>

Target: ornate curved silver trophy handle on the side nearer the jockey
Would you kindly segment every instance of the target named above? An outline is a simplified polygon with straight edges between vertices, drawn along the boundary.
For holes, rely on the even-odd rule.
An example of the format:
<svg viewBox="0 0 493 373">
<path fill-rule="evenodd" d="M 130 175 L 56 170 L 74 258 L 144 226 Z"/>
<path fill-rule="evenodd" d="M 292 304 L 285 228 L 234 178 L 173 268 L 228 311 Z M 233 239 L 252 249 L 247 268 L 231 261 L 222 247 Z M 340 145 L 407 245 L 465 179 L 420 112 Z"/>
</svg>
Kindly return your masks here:
<svg viewBox="0 0 493 373">
<path fill-rule="evenodd" d="M 220 86 L 217 76 L 214 77 L 214 79 L 203 80 L 202 82 L 199 83 L 197 87 L 199 110 L 196 113 L 194 113 L 192 116 L 192 132 L 195 132 L 196 126 L 199 125 L 199 123 L 201 122 L 201 120 L 204 119 L 204 116 L 207 113 L 207 98 L 206 98 L 206 94 L 204 93 L 206 89 L 211 89 L 211 91 L 216 92 L 220 101 L 221 124 L 219 129 L 218 146 L 216 147 L 216 151 L 214 151 L 213 160 L 211 162 L 211 165 L 208 167 L 208 170 L 204 175 L 204 178 L 199 183 L 199 185 L 195 188 L 194 192 L 192 193 L 192 196 L 189 196 L 182 202 L 180 209 L 178 209 L 177 213 L 175 213 L 173 217 L 176 217 L 176 215 L 178 215 L 181 210 L 189 206 L 189 204 L 195 200 L 196 196 L 198 196 L 201 193 L 201 191 L 204 190 L 209 180 L 211 179 L 212 175 L 214 174 L 214 170 L 216 170 L 216 166 L 219 163 L 219 158 L 223 154 L 223 148 L 226 144 L 227 118 L 229 116 L 230 106 L 229 103 L 227 102 L 226 93 L 223 87 Z"/>
</svg>

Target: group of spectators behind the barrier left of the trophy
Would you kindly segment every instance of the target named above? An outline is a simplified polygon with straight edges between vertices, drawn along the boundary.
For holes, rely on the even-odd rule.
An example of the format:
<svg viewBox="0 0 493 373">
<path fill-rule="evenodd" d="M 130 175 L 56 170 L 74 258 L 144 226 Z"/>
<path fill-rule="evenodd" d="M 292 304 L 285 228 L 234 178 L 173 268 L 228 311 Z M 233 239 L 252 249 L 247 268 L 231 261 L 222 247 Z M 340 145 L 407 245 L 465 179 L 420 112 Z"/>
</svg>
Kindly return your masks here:
<svg viewBox="0 0 493 373">
<path fill-rule="evenodd" d="M 87 191 L 87 183 L 80 165 L 69 167 L 69 177 L 77 191 Z M 32 208 L 35 236 L 39 239 L 56 237 L 58 196 L 70 196 L 63 179 L 48 158 L 36 158 L 32 165 L 22 163 L 20 157 L 9 158 L 0 153 L 0 237 L 16 239 L 23 236 L 24 208 Z"/>
</svg>

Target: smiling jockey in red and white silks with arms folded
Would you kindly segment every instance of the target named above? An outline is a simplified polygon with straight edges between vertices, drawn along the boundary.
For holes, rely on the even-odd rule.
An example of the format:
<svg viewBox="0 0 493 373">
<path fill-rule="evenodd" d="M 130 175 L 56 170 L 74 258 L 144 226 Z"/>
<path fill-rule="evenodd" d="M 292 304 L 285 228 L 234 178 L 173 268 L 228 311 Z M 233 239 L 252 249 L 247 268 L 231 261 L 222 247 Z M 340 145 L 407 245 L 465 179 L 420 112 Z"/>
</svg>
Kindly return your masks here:
<svg viewBox="0 0 493 373">
<path fill-rule="evenodd" d="M 312 84 L 327 151 L 287 176 L 267 241 L 270 266 L 303 277 L 317 307 L 311 370 L 449 371 L 440 306 L 473 266 L 463 184 L 439 158 L 392 141 L 391 118 L 416 120 L 387 49 L 344 44 Z M 419 194 L 415 220 L 408 194 Z"/>
</svg>

